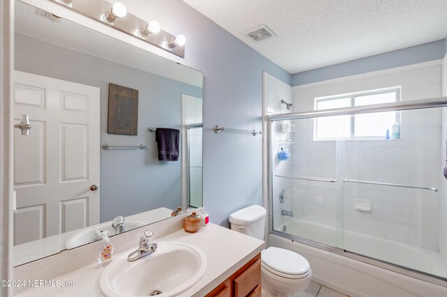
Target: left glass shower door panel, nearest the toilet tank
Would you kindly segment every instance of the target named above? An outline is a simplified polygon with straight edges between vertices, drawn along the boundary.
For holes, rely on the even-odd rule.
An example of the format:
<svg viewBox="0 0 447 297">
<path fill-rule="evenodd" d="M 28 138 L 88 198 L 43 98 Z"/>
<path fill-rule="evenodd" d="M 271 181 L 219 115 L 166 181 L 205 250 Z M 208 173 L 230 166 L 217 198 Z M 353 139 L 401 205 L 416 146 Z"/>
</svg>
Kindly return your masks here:
<svg viewBox="0 0 447 297">
<path fill-rule="evenodd" d="M 344 119 L 335 119 L 344 125 Z M 271 125 L 272 226 L 332 248 L 343 248 L 341 187 L 336 141 L 316 141 L 315 119 Z M 335 127 L 337 128 L 337 127 Z"/>
</svg>

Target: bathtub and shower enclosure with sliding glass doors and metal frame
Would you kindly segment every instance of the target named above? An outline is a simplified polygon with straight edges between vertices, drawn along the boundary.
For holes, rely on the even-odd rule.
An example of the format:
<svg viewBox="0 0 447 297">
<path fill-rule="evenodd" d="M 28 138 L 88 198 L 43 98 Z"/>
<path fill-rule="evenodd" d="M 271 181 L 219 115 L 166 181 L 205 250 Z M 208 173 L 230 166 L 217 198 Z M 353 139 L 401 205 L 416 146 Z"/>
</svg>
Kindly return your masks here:
<svg viewBox="0 0 447 297">
<path fill-rule="evenodd" d="M 346 294 L 446 296 L 446 106 L 268 116 L 269 245 L 302 254 L 314 280 Z"/>
</svg>

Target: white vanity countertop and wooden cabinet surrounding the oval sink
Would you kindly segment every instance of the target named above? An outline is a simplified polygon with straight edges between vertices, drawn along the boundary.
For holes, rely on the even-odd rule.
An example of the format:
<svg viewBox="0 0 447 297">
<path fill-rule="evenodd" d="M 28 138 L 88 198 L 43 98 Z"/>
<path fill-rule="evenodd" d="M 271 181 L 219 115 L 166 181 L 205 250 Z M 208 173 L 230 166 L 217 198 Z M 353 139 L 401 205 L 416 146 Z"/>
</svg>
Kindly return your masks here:
<svg viewBox="0 0 447 297">
<path fill-rule="evenodd" d="M 112 263 L 122 254 L 129 254 L 138 248 L 142 232 L 151 229 L 155 234 L 154 243 L 191 245 L 205 254 L 207 264 L 203 277 L 178 296 L 261 296 L 260 253 L 265 248 L 264 241 L 216 224 L 209 224 L 190 234 L 182 227 L 186 215 L 112 237 L 115 245 Z M 27 284 L 15 288 L 15 295 L 104 296 L 99 282 L 107 266 L 98 266 L 98 247 L 99 243 L 91 243 L 14 268 L 15 280 L 24 280 Z M 49 285 L 30 287 L 29 280 L 45 280 Z"/>
</svg>

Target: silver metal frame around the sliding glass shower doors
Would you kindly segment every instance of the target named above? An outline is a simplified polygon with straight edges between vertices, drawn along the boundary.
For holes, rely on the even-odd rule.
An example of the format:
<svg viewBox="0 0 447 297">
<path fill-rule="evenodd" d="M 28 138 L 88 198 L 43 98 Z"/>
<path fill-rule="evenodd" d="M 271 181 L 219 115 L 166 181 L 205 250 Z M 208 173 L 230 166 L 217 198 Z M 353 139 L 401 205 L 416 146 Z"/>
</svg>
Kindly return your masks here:
<svg viewBox="0 0 447 297">
<path fill-rule="evenodd" d="M 388 271 L 393 271 L 395 273 L 400 273 L 402 275 L 406 275 L 409 277 L 414 277 L 418 280 L 423 280 L 425 282 L 430 282 L 432 284 L 437 284 L 442 287 L 447 287 L 447 278 L 438 277 L 436 275 L 430 275 L 428 273 L 423 273 L 420 271 L 413 270 L 411 268 L 406 268 L 403 266 L 399 266 L 396 264 L 390 264 L 386 261 L 381 261 L 379 259 L 375 259 L 372 257 L 367 257 L 362 254 L 356 254 L 355 252 L 349 252 L 342 248 L 336 248 L 329 245 L 325 245 L 323 243 L 318 243 L 316 241 L 312 241 L 307 238 L 303 238 L 300 236 L 295 236 L 292 234 L 287 234 L 281 231 L 274 230 L 273 226 L 273 181 L 274 181 L 274 169 L 272 166 L 272 160 L 274 158 L 274 144 L 272 137 L 272 123 L 274 121 L 286 121 L 286 120 L 297 120 L 297 119 L 315 119 L 323 116 L 344 116 L 351 114 L 367 114 L 373 112 L 397 112 L 403 110 L 414 110 L 414 109 L 426 109 L 426 108 L 435 108 L 435 107 L 447 107 L 447 97 L 437 97 L 437 98 L 429 98 L 422 100 L 410 100 L 410 101 L 400 101 L 395 103 L 383 103 L 377 105 L 365 105 L 361 107 L 343 107 L 337 109 L 324 109 L 318 111 L 310 111 L 310 112 L 295 112 L 290 114 L 274 114 L 267 116 L 267 130 L 268 130 L 268 201 L 270 210 L 270 234 L 274 234 L 277 236 L 281 236 L 283 238 L 287 238 L 291 241 L 297 241 L 298 243 L 302 243 L 305 245 L 312 246 L 313 248 L 318 248 L 321 250 L 325 250 L 327 252 L 332 252 L 335 254 L 339 254 L 343 257 L 348 257 L 351 259 L 355 259 L 357 261 L 361 261 L 363 263 L 371 264 L 373 266 L 377 266 L 380 268 L 387 269 Z"/>
</svg>

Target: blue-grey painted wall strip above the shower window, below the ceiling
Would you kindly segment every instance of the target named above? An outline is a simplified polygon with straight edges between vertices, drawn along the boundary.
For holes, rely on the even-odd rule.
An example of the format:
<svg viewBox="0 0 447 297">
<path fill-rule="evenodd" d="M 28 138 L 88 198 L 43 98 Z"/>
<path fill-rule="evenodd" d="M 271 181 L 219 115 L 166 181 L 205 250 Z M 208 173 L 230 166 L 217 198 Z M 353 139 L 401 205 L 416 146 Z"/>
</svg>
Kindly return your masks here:
<svg viewBox="0 0 447 297">
<path fill-rule="evenodd" d="M 318 68 L 314 70 L 295 73 L 292 75 L 292 86 L 300 84 L 310 84 L 312 82 L 321 82 L 327 79 L 368 73 L 371 71 L 382 70 L 405 66 L 413 63 L 422 63 L 435 59 L 442 59 L 445 56 L 447 41 L 446 39 L 407 47 L 402 50 L 386 52 L 376 56 L 339 63 L 332 66 Z"/>
</svg>

